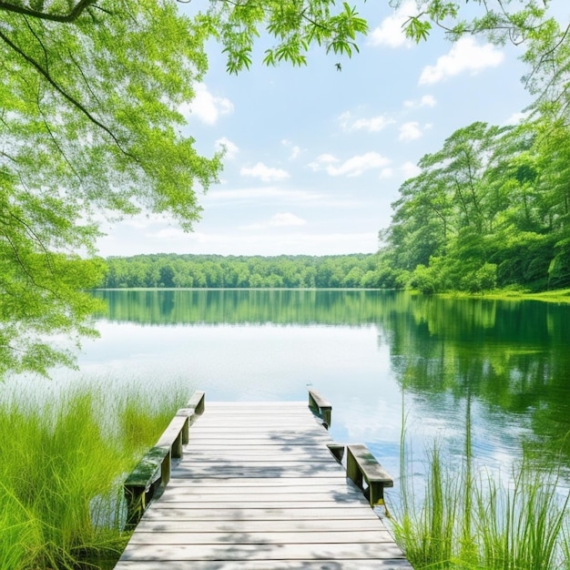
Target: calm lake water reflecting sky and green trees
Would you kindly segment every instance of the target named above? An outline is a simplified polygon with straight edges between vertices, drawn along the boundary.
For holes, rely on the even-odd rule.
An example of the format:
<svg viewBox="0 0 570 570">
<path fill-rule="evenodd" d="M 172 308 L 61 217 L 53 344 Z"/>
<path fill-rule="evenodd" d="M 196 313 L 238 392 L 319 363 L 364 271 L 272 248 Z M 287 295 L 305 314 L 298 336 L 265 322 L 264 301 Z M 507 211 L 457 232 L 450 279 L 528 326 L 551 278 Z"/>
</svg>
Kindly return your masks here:
<svg viewBox="0 0 570 570">
<path fill-rule="evenodd" d="M 184 383 L 207 401 L 305 400 L 311 386 L 332 402 L 333 438 L 366 443 L 395 493 L 403 428 L 419 479 L 434 441 L 461 460 L 468 426 L 476 462 L 497 473 L 524 448 L 570 468 L 570 305 L 372 290 L 96 294 L 108 312 L 79 376 L 151 392 Z"/>
</svg>

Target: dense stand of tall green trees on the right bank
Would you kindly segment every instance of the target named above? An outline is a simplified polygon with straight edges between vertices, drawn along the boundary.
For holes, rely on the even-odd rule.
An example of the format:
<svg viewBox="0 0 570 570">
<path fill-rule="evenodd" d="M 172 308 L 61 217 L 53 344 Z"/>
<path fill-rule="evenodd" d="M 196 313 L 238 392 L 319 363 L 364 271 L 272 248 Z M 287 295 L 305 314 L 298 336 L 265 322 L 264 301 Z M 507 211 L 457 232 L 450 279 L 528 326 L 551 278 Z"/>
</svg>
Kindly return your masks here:
<svg viewBox="0 0 570 570">
<path fill-rule="evenodd" d="M 514 127 L 460 128 L 421 159 L 381 231 L 379 287 L 570 286 L 570 144 L 551 111 L 537 104 Z"/>
</svg>

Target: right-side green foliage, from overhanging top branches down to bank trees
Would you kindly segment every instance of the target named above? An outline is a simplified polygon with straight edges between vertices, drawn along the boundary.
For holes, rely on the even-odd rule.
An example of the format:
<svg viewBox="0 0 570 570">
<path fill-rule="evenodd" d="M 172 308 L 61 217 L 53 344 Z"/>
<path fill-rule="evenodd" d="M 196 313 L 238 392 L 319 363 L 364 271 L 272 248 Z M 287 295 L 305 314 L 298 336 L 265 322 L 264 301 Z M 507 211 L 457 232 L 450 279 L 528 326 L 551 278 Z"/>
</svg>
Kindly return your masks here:
<svg viewBox="0 0 570 570">
<path fill-rule="evenodd" d="M 570 35 L 545 18 L 547 3 L 475 2 L 483 14 L 464 19 L 467 4 L 428 2 L 406 34 L 420 41 L 436 25 L 453 40 L 473 33 L 524 42 L 532 113 L 516 127 L 460 128 L 423 157 L 392 204 L 381 263 L 411 272 L 400 282 L 424 292 L 567 287 Z"/>
</svg>

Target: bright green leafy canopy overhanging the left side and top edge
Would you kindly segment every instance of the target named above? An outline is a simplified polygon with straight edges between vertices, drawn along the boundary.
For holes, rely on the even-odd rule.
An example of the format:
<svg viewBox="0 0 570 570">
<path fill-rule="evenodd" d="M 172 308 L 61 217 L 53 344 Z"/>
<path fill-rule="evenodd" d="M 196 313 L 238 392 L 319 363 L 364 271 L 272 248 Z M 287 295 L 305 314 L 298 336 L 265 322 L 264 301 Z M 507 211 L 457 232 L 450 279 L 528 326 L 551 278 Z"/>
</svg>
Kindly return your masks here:
<svg viewBox="0 0 570 570">
<path fill-rule="evenodd" d="M 462 5 L 428 2 L 408 34 L 427 36 Z M 524 35 L 543 15 L 534 2 L 508 17 L 469 5 L 483 16 L 457 20 L 452 36 L 504 22 Z M 145 211 L 192 229 L 198 194 L 222 167 L 221 153 L 198 154 L 183 112 L 207 70 L 209 38 L 238 73 L 262 34 L 273 40 L 266 65 L 300 66 L 312 46 L 354 55 L 368 30 L 354 5 L 333 0 L 210 0 L 192 17 L 178 8 L 0 0 L 0 376 L 69 364 L 72 352 L 46 334 L 77 342 L 93 332 L 95 301 L 82 291 L 105 270 L 93 258 L 101 219 Z"/>
</svg>

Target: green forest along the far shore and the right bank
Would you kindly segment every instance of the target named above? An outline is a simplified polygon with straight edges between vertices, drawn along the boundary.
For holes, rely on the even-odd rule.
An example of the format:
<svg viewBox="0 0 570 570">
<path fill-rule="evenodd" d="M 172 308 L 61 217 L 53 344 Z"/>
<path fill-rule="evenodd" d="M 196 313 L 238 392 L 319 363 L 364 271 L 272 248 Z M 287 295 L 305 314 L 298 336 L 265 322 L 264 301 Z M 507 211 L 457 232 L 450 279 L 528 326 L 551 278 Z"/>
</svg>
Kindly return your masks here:
<svg viewBox="0 0 570 570">
<path fill-rule="evenodd" d="M 546 52 L 548 45 L 538 42 L 524 56 L 535 100 L 523 118 L 459 128 L 423 156 L 419 174 L 399 188 L 376 253 L 109 258 L 102 286 L 423 293 L 570 287 L 570 46 Z"/>
</svg>

